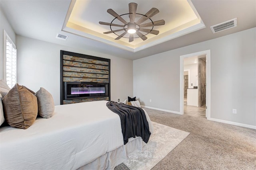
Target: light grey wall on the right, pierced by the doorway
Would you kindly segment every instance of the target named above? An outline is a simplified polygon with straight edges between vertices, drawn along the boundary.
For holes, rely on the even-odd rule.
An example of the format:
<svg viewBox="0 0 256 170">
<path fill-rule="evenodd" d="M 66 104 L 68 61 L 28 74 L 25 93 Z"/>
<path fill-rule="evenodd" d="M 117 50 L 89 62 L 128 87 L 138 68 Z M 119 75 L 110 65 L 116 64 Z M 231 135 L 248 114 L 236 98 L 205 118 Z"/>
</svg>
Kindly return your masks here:
<svg viewBox="0 0 256 170">
<path fill-rule="evenodd" d="M 133 61 L 142 105 L 180 111 L 180 55 L 211 50 L 211 118 L 256 125 L 256 28 Z M 152 102 L 149 102 L 152 99 Z M 237 114 L 232 109 L 237 109 Z"/>
</svg>

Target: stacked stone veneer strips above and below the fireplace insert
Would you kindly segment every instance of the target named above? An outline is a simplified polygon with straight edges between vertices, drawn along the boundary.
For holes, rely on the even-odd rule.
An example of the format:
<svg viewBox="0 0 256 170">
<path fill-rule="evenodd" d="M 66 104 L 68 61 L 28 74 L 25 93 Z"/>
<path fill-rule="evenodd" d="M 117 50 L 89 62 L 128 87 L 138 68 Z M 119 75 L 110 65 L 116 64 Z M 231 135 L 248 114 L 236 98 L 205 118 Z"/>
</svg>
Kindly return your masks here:
<svg viewBox="0 0 256 170">
<path fill-rule="evenodd" d="M 103 82 L 109 83 L 109 62 L 70 55 L 62 57 L 63 82 Z M 109 97 L 63 100 L 63 104 L 109 100 Z"/>
</svg>

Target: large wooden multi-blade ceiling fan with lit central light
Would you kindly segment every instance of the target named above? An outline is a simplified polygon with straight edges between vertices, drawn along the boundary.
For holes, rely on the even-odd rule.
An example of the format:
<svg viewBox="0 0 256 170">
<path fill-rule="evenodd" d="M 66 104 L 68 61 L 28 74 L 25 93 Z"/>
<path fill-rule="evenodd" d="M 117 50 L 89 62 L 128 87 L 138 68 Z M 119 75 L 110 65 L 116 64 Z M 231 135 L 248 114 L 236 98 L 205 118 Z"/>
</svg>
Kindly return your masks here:
<svg viewBox="0 0 256 170">
<path fill-rule="evenodd" d="M 122 15 L 118 15 L 116 12 L 114 12 L 114 10 L 108 9 L 107 12 L 109 14 L 111 14 L 112 16 L 114 16 L 115 18 L 114 18 L 114 20 L 111 21 L 111 23 L 102 22 L 102 21 L 99 22 L 101 25 L 110 25 L 111 31 L 104 32 L 104 34 L 114 33 L 114 34 L 118 35 L 117 32 L 124 31 L 122 34 L 118 35 L 118 37 L 116 37 L 115 40 L 118 40 L 118 39 L 124 37 L 127 33 L 129 33 L 129 37 L 124 37 L 124 38 L 129 38 L 129 42 L 132 42 L 134 40 L 134 38 L 138 38 L 138 37 L 140 37 L 143 41 L 145 41 L 147 39 L 146 35 L 148 33 L 158 35 L 159 31 L 154 30 L 153 28 L 154 28 L 154 26 L 164 25 L 165 21 L 164 20 L 152 21 L 150 18 L 152 16 L 156 15 L 159 12 L 159 10 L 157 8 L 151 8 L 145 15 L 143 15 L 143 14 L 136 13 L 137 6 L 138 6 L 138 4 L 136 4 L 136 3 L 133 3 L 133 2 L 130 3 L 129 4 L 129 13 L 122 14 Z M 124 20 L 122 18 L 122 16 L 124 16 L 124 15 L 129 15 L 130 22 L 127 22 L 126 20 Z M 134 20 L 135 20 L 136 15 L 142 16 L 142 17 L 135 22 Z M 115 21 L 116 19 L 121 21 L 122 23 L 124 23 L 124 25 L 113 23 L 113 21 Z M 142 24 L 146 20 L 150 20 L 150 21 L 148 23 Z M 112 27 L 122 27 L 122 29 L 113 30 Z M 151 27 L 151 29 L 146 29 L 145 27 Z M 143 32 L 143 33 L 141 33 L 141 32 Z M 138 35 L 138 37 L 134 37 L 134 33 L 136 33 Z"/>
</svg>

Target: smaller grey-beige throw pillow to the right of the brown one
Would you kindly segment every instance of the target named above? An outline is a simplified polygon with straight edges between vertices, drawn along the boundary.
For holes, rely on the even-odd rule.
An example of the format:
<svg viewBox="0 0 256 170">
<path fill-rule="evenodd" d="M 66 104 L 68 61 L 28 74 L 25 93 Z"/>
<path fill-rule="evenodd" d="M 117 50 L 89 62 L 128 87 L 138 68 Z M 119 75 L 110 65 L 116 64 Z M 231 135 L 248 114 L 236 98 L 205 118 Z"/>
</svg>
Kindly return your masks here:
<svg viewBox="0 0 256 170">
<path fill-rule="evenodd" d="M 54 101 L 52 95 L 42 87 L 35 95 L 38 102 L 38 114 L 44 118 L 52 117 L 54 112 Z"/>
</svg>

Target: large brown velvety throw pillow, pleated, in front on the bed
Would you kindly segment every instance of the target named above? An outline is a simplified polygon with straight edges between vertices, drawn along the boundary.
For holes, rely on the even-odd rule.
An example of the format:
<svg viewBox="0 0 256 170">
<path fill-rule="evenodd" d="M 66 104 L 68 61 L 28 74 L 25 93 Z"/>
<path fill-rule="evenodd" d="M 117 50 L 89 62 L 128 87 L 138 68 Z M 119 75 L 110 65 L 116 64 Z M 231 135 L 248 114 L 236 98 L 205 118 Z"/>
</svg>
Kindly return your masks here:
<svg viewBox="0 0 256 170">
<path fill-rule="evenodd" d="M 38 113 L 37 98 L 26 87 L 18 83 L 2 99 L 7 123 L 19 129 L 28 129 Z"/>
</svg>

